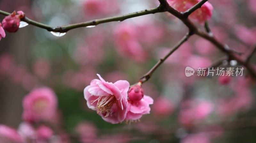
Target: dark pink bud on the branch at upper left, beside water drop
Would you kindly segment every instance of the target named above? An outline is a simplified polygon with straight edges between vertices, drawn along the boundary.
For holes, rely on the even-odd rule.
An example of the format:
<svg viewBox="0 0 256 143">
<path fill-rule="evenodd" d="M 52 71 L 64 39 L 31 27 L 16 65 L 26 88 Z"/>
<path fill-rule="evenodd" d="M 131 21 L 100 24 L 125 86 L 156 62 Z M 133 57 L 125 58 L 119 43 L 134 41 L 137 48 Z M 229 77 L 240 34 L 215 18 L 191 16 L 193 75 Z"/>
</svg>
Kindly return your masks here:
<svg viewBox="0 0 256 143">
<path fill-rule="evenodd" d="M 12 12 L 11 15 L 6 16 L 3 21 L 4 30 L 14 33 L 18 31 L 20 26 L 20 15 L 16 15 L 16 11 Z"/>
</svg>

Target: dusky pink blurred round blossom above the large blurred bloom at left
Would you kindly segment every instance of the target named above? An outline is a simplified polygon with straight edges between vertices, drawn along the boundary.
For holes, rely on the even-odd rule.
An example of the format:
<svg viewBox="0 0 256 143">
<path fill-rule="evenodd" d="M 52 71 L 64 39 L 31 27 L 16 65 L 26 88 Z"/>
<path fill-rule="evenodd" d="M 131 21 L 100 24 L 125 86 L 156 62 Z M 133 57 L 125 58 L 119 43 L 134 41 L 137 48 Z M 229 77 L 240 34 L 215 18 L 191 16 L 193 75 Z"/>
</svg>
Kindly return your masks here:
<svg viewBox="0 0 256 143">
<path fill-rule="evenodd" d="M 51 73 L 51 65 L 47 59 L 38 59 L 33 65 L 33 70 L 41 79 L 46 79 Z"/>
</svg>

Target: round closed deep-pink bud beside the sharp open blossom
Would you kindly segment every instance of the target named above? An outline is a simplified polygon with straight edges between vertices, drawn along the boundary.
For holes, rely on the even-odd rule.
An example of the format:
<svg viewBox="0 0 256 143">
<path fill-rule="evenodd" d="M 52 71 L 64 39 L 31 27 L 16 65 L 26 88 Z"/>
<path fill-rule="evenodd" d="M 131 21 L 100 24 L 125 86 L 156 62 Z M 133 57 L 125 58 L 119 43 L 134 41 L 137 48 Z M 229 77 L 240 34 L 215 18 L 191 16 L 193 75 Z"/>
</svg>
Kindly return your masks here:
<svg viewBox="0 0 256 143">
<path fill-rule="evenodd" d="M 143 96 L 144 90 L 140 87 L 140 85 L 133 86 L 128 90 L 128 97 L 133 102 L 140 101 Z"/>
</svg>

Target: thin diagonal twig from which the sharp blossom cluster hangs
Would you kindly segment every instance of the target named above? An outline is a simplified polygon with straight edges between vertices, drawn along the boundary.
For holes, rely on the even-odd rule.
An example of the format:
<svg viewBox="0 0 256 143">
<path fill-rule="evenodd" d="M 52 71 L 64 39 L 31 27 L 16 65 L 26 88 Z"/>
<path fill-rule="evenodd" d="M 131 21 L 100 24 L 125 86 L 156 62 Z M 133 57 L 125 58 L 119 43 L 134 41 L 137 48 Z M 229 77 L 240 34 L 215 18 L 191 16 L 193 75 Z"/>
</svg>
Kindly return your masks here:
<svg viewBox="0 0 256 143">
<path fill-rule="evenodd" d="M 152 76 L 152 74 L 156 71 L 156 69 L 164 63 L 164 61 L 170 56 L 172 55 L 172 53 L 174 51 L 176 51 L 185 41 L 188 40 L 188 38 L 191 35 L 189 33 L 187 33 L 175 46 L 172 47 L 171 51 L 169 53 L 167 53 L 163 58 L 161 58 L 142 78 L 140 78 L 141 83 L 144 83 L 146 81 L 148 81 L 148 79 L 150 79 L 150 77 Z"/>
</svg>

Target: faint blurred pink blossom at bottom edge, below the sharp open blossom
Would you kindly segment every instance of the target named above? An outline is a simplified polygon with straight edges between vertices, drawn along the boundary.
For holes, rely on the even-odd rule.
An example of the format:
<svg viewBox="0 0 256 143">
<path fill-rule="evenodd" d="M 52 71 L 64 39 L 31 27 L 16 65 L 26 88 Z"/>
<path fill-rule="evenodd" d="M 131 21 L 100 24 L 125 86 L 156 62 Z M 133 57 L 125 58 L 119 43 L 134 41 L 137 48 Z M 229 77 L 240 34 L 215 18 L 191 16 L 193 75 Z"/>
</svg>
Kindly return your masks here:
<svg viewBox="0 0 256 143">
<path fill-rule="evenodd" d="M 82 122 L 78 124 L 76 132 L 79 134 L 82 143 L 92 143 L 97 139 L 97 128 L 93 123 Z"/>
</svg>

